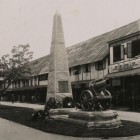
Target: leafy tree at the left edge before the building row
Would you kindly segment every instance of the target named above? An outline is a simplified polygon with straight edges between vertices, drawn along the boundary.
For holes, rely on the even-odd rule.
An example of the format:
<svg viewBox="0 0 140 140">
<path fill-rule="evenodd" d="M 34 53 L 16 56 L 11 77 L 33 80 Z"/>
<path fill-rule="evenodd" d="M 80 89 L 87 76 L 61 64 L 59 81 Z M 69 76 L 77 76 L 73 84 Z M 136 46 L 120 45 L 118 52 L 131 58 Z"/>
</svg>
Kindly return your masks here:
<svg viewBox="0 0 140 140">
<path fill-rule="evenodd" d="M 3 55 L 0 58 L 0 86 L 3 85 L 3 90 L 22 78 L 27 78 L 31 69 L 29 61 L 32 59 L 33 52 L 29 51 L 30 46 L 19 45 L 14 46 L 10 54 Z"/>
</svg>

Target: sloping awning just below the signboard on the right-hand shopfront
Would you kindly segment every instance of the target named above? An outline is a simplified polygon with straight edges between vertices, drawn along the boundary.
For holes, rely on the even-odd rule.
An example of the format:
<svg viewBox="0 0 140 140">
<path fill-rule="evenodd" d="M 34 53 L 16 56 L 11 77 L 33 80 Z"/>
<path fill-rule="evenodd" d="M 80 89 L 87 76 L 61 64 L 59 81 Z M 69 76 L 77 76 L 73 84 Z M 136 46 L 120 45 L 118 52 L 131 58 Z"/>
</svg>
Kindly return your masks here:
<svg viewBox="0 0 140 140">
<path fill-rule="evenodd" d="M 115 72 L 115 73 L 109 73 L 105 77 L 116 78 L 116 77 L 126 77 L 126 76 L 133 76 L 133 75 L 140 75 L 140 68 L 127 70 L 127 71 L 121 71 L 121 72 Z"/>
</svg>

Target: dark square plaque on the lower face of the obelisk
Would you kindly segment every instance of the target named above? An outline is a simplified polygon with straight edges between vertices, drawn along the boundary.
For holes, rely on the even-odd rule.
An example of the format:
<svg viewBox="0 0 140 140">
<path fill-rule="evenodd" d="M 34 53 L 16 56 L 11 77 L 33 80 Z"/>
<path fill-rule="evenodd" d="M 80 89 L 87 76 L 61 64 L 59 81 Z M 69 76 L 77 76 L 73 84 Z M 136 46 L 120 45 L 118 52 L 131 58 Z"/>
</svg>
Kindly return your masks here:
<svg viewBox="0 0 140 140">
<path fill-rule="evenodd" d="M 59 93 L 68 93 L 68 81 L 58 81 Z"/>
</svg>

